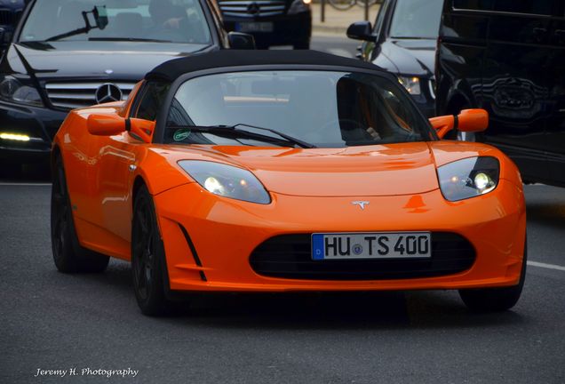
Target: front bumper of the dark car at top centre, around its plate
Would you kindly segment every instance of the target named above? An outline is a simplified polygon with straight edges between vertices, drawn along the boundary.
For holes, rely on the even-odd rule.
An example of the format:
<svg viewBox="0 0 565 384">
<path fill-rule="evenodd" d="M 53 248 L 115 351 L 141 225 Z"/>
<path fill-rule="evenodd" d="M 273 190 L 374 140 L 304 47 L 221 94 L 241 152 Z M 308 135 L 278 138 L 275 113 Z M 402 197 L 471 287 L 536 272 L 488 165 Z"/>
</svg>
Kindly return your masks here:
<svg viewBox="0 0 565 384">
<path fill-rule="evenodd" d="M 224 27 L 230 32 L 241 31 L 241 24 L 246 22 L 273 23 L 272 32 L 247 32 L 253 35 L 259 48 L 309 42 L 312 35 L 312 12 L 310 11 L 262 18 L 224 17 Z"/>
</svg>

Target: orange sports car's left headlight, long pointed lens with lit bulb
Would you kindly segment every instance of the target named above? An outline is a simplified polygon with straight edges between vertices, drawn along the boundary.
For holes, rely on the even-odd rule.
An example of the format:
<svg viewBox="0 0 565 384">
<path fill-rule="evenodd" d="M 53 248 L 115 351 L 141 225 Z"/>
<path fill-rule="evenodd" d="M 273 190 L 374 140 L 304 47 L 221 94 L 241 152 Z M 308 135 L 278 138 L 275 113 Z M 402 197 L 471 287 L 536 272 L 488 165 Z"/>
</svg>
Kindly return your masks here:
<svg viewBox="0 0 565 384">
<path fill-rule="evenodd" d="M 249 171 L 232 165 L 199 160 L 181 160 L 179 165 L 213 194 L 251 203 L 271 203 L 267 190 Z"/>
</svg>

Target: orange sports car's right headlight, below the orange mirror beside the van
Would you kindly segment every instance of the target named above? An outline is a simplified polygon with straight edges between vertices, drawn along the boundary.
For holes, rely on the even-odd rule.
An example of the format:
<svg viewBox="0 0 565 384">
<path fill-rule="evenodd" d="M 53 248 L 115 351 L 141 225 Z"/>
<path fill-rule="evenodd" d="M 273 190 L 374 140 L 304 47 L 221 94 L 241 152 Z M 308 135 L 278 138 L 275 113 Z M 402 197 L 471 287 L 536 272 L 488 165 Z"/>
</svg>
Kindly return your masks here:
<svg viewBox="0 0 565 384">
<path fill-rule="evenodd" d="M 495 157 L 469 157 L 437 169 L 443 197 L 463 200 L 497 188 L 500 164 Z"/>
</svg>

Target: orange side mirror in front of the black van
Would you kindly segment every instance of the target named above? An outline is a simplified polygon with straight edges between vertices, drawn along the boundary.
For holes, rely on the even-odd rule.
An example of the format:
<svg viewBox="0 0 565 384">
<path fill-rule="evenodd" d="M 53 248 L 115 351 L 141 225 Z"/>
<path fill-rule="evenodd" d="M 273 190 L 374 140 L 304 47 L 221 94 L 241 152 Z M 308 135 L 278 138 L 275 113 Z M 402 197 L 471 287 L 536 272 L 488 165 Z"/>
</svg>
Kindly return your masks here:
<svg viewBox="0 0 565 384">
<path fill-rule="evenodd" d="M 482 132 L 489 126 L 489 113 L 484 109 L 464 109 L 459 115 L 432 117 L 430 124 L 440 139 L 453 129 L 460 132 Z"/>
</svg>

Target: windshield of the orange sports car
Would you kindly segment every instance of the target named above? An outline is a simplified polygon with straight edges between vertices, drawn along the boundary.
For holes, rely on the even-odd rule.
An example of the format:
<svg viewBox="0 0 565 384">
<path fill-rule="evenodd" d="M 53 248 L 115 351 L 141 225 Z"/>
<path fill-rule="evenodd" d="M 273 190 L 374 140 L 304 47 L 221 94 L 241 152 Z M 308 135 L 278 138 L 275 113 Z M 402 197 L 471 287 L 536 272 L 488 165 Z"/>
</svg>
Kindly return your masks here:
<svg viewBox="0 0 565 384">
<path fill-rule="evenodd" d="M 229 131 L 233 126 L 279 140 L 275 132 L 280 132 L 318 148 L 435 139 L 426 119 L 398 84 L 383 76 L 334 71 L 252 71 L 195 77 L 180 85 L 166 125 L 164 140 L 170 143 L 275 142 L 260 140 L 259 135 L 238 136 Z M 190 126 L 206 129 L 191 131 Z M 288 141 L 286 146 L 293 145 Z"/>
</svg>

